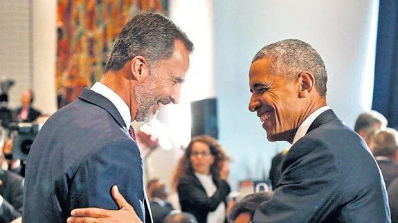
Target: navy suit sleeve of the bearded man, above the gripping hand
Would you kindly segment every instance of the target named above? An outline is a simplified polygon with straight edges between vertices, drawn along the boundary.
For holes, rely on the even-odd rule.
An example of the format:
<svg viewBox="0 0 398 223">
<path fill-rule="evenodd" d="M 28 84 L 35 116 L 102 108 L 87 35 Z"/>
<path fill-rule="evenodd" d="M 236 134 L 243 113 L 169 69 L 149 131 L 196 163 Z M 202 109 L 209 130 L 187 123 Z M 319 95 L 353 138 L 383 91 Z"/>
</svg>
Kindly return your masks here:
<svg viewBox="0 0 398 223">
<path fill-rule="evenodd" d="M 71 193 L 71 209 L 83 206 L 118 209 L 111 197 L 114 185 L 118 185 L 120 193 L 144 221 L 143 163 L 138 146 L 131 139 L 112 140 L 80 165 L 73 180 L 75 194 Z"/>
</svg>

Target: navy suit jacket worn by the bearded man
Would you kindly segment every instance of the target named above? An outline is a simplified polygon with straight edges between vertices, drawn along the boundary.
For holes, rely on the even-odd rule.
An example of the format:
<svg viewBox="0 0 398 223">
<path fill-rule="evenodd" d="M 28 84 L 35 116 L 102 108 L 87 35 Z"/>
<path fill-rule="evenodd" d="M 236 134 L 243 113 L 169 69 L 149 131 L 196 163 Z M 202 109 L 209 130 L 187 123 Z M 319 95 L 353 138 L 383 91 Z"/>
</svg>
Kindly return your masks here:
<svg viewBox="0 0 398 223">
<path fill-rule="evenodd" d="M 118 209 L 117 184 L 141 220 L 150 222 L 143 162 L 118 110 L 84 88 L 52 115 L 33 142 L 26 165 L 24 222 L 66 222 L 72 209 Z"/>
</svg>

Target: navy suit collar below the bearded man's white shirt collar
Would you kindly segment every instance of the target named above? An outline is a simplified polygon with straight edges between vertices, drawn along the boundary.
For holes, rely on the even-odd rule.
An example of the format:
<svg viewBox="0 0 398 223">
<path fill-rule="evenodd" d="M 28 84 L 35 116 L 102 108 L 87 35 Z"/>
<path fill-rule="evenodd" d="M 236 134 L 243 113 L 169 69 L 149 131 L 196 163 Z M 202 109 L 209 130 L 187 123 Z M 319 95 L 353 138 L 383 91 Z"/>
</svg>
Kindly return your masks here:
<svg viewBox="0 0 398 223">
<path fill-rule="evenodd" d="M 109 114 L 111 114 L 112 117 L 114 117 L 119 126 L 127 128 L 125 121 L 123 121 L 123 117 L 120 115 L 118 109 L 106 97 L 94 92 L 93 90 L 90 90 L 89 88 L 84 88 L 79 98 L 104 108 Z"/>
</svg>

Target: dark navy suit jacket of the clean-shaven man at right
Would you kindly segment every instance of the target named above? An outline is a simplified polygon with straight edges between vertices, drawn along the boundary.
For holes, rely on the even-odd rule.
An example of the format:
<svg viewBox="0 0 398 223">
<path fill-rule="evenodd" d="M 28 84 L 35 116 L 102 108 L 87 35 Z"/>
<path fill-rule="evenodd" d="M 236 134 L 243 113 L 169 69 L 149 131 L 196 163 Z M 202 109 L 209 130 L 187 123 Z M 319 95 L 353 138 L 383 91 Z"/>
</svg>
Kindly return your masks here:
<svg viewBox="0 0 398 223">
<path fill-rule="evenodd" d="M 386 186 L 363 139 L 332 110 L 291 146 L 254 222 L 390 222 Z"/>
</svg>

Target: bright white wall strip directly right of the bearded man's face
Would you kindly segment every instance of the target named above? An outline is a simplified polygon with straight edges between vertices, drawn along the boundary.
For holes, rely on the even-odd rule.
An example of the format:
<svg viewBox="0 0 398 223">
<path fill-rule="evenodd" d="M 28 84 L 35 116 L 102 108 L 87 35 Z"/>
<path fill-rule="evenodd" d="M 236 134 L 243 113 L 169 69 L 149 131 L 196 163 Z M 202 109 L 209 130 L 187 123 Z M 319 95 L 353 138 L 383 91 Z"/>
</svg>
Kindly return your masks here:
<svg viewBox="0 0 398 223">
<path fill-rule="evenodd" d="M 213 13 L 211 0 L 171 0 L 170 19 L 186 32 L 194 43 L 190 69 L 181 88 L 178 105 L 161 109 L 159 119 L 165 122 L 174 147 L 190 142 L 190 101 L 214 97 Z"/>
</svg>

